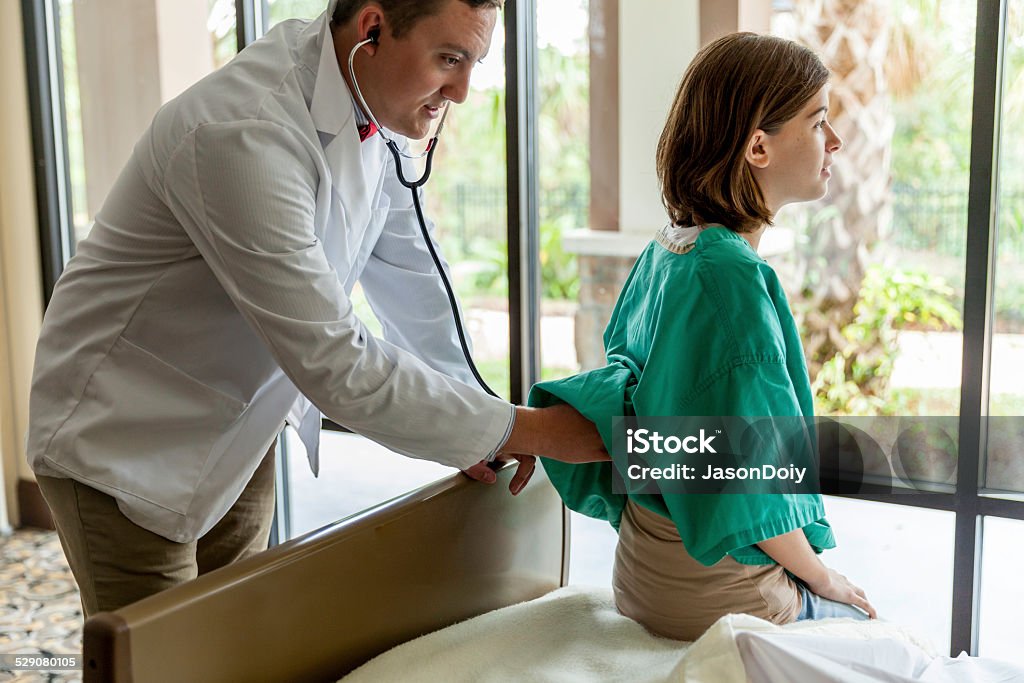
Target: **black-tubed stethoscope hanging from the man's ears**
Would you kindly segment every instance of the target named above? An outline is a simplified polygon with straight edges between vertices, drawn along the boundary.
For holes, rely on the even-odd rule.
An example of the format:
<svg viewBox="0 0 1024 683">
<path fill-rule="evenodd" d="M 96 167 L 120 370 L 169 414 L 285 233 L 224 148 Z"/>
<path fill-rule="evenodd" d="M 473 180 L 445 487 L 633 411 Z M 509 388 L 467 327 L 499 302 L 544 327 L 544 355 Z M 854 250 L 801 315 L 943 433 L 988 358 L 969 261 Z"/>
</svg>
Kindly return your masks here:
<svg viewBox="0 0 1024 683">
<path fill-rule="evenodd" d="M 391 156 L 394 157 L 394 167 L 395 172 L 398 175 L 398 182 L 413 193 L 413 206 L 416 208 L 416 217 L 420 221 L 420 233 L 423 236 L 423 242 L 427 245 L 427 251 L 430 252 L 430 258 L 433 259 L 434 266 L 437 267 L 437 272 L 441 276 L 441 283 L 444 285 L 444 292 L 447 294 L 449 305 L 452 307 L 452 317 L 455 319 L 456 332 L 459 333 L 459 343 L 462 345 L 462 353 L 466 357 L 466 365 L 469 366 L 470 372 L 473 373 L 473 377 L 476 378 L 480 387 L 492 396 L 497 397 L 498 394 L 495 393 L 489 386 L 487 386 L 486 382 L 483 381 L 483 378 L 480 377 L 480 373 L 476 370 L 476 364 L 473 362 L 473 356 L 469 352 L 469 343 L 466 341 L 466 331 L 462 326 L 462 315 L 459 313 L 459 304 L 455 299 L 455 291 L 452 289 L 452 283 L 449 282 L 447 275 L 444 274 L 444 268 L 441 267 L 440 258 L 437 256 L 437 251 L 434 249 L 434 242 L 430 239 L 430 232 L 427 231 L 427 221 L 423 217 L 423 208 L 420 206 L 420 193 L 418 189 L 422 187 L 430 178 L 430 169 L 434 160 L 434 151 L 437 148 L 437 138 L 440 136 L 441 129 L 444 127 L 444 120 L 447 119 L 449 108 L 451 104 L 447 101 L 444 102 L 444 112 L 441 114 L 441 120 L 437 124 L 437 130 L 434 131 L 434 136 L 430 138 L 429 142 L 427 142 L 427 148 L 424 150 L 422 154 L 408 155 L 399 150 L 398 144 L 394 141 L 394 139 L 384 134 L 384 128 L 381 127 L 380 122 L 377 121 L 377 117 L 374 116 L 374 113 L 370 110 L 370 105 L 367 104 L 367 100 L 362 97 L 362 90 L 359 89 L 359 82 L 355 79 L 355 69 L 352 66 L 352 62 L 355 59 L 355 53 L 358 49 L 370 43 L 377 44 L 379 42 L 379 38 L 380 30 L 375 29 L 370 32 L 369 37 L 366 40 L 356 43 L 352 50 L 348 53 L 348 75 L 352 79 L 352 89 L 355 90 L 355 97 L 359 100 L 359 106 L 362 108 L 362 112 L 367 115 L 367 118 L 370 119 L 371 123 L 377 127 L 377 134 L 384 139 L 387 148 L 391 151 Z M 423 175 L 421 175 L 418 180 L 411 182 L 406 178 L 406 174 L 402 171 L 401 166 L 401 159 L 403 157 L 406 159 L 414 160 L 423 159 L 424 157 L 427 158 L 424 165 Z"/>
</svg>

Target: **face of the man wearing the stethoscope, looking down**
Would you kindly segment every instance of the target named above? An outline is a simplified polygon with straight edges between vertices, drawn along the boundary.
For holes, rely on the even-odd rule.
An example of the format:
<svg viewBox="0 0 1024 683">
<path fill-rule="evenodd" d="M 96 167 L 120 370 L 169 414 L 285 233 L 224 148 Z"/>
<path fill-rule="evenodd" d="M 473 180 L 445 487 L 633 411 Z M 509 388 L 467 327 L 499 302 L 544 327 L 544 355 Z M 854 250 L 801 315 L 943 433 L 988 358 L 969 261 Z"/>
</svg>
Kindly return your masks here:
<svg viewBox="0 0 1024 683">
<path fill-rule="evenodd" d="M 385 17 L 380 45 L 370 58 L 357 55 L 355 63 L 381 125 L 413 139 L 426 137 L 445 102 L 466 100 L 470 74 L 490 49 L 497 18 L 494 7 L 446 0 L 436 14 L 395 38 Z"/>
</svg>

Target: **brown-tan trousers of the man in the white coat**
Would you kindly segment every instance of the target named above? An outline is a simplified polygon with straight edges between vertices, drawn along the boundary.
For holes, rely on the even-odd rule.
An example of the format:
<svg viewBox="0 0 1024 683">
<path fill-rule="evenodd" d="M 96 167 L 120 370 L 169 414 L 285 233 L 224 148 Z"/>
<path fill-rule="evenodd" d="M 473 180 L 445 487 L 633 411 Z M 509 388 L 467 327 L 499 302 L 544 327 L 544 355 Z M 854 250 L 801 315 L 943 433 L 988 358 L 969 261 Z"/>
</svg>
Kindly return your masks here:
<svg viewBox="0 0 1024 683">
<path fill-rule="evenodd" d="M 135 524 L 115 499 L 74 479 L 37 476 L 89 617 L 265 550 L 273 520 L 274 449 L 203 538 L 175 543 Z"/>
</svg>

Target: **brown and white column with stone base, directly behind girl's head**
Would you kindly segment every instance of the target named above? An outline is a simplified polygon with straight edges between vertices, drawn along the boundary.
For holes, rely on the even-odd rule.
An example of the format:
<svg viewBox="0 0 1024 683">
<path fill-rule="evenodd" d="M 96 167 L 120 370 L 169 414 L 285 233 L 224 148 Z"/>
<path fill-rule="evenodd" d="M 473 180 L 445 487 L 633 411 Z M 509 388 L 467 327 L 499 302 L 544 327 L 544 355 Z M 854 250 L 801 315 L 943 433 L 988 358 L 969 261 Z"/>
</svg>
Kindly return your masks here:
<svg viewBox="0 0 1024 683">
<path fill-rule="evenodd" d="M 591 216 L 565 239 L 580 259 L 577 355 L 604 364 L 601 335 L 637 255 L 666 221 L 654 151 L 686 63 L 699 0 L 591 0 Z"/>
</svg>

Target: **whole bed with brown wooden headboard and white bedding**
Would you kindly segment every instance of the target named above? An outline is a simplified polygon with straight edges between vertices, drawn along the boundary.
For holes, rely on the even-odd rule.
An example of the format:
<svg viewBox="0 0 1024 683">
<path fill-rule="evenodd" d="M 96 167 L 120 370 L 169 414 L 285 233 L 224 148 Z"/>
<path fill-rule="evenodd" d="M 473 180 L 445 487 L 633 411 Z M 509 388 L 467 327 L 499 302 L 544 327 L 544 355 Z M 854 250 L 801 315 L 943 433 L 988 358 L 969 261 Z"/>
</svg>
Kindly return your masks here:
<svg viewBox="0 0 1024 683">
<path fill-rule="evenodd" d="M 607 589 L 564 587 L 566 512 L 542 470 L 515 498 L 511 477 L 453 475 L 96 614 L 84 680 L 1024 681 L 883 621 L 728 614 L 694 643 L 656 638 Z"/>
</svg>

